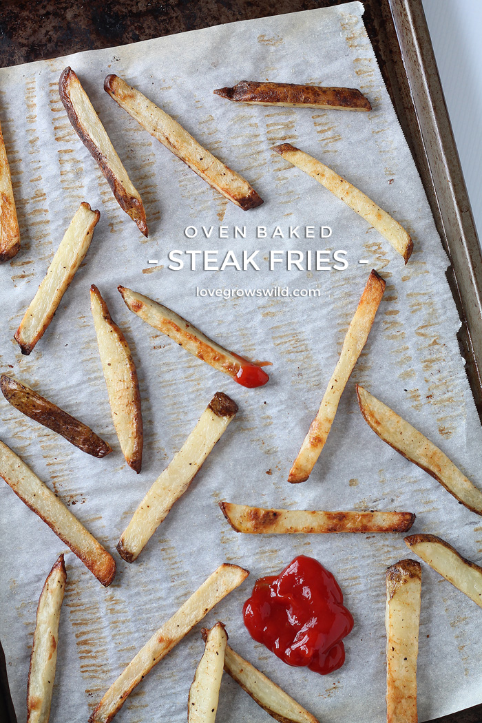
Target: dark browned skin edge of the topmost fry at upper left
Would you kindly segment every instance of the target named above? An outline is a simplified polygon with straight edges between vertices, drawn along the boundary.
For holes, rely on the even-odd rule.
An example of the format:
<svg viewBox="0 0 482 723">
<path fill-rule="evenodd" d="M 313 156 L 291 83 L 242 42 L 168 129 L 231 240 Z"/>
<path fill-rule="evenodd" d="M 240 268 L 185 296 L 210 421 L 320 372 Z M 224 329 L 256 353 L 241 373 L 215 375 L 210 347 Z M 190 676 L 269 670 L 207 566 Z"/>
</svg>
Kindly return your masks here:
<svg viewBox="0 0 482 723">
<path fill-rule="evenodd" d="M 77 80 L 80 87 L 82 87 L 82 83 L 80 83 L 77 74 L 70 67 L 66 67 L 66 69 L 64 69 L 59 78 L 59 95 L 66 110 L 67 117 L 69 118 L 69 121 L 71 122 L 74 131 L 77 133 L 80 140 L 89 151 L 90 155 L 92 155 L 92 158 L 94 158 L 95 161 L 98 163 L 98 166 L 102 171 L 103 175 L 105 176 L 109 186 L 111 187 L 111 190 L 114 194 L 114 197 L 116 198 L 116 201 L 119 203 L 119 206 L 127 213 L 127 215 L 132 218 L 132 221 L 136 223 L 139 231 L 147 238 L 147 222 L 145 218 L 145 209 L 142 205 L 142 201 L 139 202 L 137 198 L 132 197 L 126 193 L 126 189 L 124 189 L 122 184 L 119 183 L 118 179 L 113 174 L 112 168 L 108 165 L 106 161 L 106 157 L 103 155 L 103 153 L 100 153 L 100 150 L 92 141 L 90 135 L 85 132 L 84 126 L 82 125 L 82 120 L 79 119 L 79 116 L 75 111 L 69 94 L 69 85 L 75 80 Z"/>
</svg>

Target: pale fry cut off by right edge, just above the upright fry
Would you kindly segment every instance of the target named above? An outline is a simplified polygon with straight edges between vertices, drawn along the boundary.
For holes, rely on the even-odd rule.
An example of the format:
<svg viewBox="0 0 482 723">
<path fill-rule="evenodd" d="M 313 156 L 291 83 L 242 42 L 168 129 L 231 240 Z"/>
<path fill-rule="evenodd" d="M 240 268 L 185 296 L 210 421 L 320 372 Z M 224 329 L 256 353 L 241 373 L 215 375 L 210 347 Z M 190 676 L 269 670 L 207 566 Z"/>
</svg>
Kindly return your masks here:
<svg viewBox="0 0 482 723">
<path fill-rule="evenodd" d="M 409 535 L 405 544 L 460 592 L 482 607 L 482 568 L 465 560 L 455 547 L 436 535 Z"/>
</svg>

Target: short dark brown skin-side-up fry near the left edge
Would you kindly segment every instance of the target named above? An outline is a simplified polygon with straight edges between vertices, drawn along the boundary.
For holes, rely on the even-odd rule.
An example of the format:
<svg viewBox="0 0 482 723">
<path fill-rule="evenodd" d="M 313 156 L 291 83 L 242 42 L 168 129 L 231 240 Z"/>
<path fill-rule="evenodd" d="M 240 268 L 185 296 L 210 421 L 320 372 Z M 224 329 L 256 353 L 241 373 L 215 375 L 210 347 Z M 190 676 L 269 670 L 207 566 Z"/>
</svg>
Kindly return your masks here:
<svg viewBox="0 0 482 723">
<path fill-rule="evenodd" d="M 34 422 L 52 429 L 53 432 L 64 437 L 82 452 L 90 454 L 92 457 L 105 457 L 112 452 L 107 442 L 101 440 L 90 427 L 34 392 L 26 384 L 21 384 L 13 377 L 2 374 L 0 390 L 7 402 L 14 408 L 29 416 Z"/>
</svg>

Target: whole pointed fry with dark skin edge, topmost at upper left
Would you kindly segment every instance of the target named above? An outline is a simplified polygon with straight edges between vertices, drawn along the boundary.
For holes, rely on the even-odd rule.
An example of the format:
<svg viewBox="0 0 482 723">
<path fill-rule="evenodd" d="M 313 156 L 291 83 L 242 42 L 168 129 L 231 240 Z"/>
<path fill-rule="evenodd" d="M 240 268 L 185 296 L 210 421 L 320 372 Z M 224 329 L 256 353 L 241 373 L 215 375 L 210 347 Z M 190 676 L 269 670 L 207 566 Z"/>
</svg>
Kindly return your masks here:
<svg viewBox="0 0 482 723">
<path fill-rule="evenodd" d="M 147 236 L 145 210 L 139 192 L 129 179 L 89 96 L 71 68 L 66 68 L 61 74 L 59 95 L 74 131 L 97 161 L 119 206 Z"/>
</svg>

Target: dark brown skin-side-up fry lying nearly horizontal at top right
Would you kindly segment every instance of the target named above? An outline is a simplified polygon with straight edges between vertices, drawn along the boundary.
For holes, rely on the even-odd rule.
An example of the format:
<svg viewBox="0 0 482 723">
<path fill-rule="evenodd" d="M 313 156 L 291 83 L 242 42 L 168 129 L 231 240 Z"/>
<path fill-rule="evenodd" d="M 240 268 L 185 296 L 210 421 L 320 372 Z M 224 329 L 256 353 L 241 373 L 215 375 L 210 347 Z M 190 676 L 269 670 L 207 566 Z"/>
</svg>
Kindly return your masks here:
<svg viewBox="0 0 482 723">
<path fill-rule="evenodd" d="M 365 98 L 356 88 L 241 80 L 234 87 L 219 88 L 213 93 L 237 103 L 248 103 L 254 106 L 371 111 L 369 99 Z"/>
</svg>

